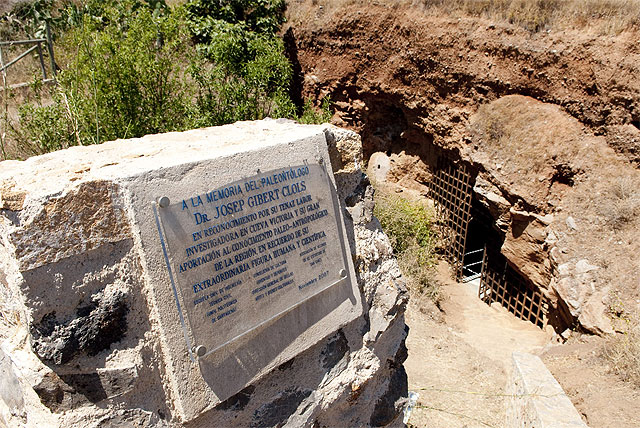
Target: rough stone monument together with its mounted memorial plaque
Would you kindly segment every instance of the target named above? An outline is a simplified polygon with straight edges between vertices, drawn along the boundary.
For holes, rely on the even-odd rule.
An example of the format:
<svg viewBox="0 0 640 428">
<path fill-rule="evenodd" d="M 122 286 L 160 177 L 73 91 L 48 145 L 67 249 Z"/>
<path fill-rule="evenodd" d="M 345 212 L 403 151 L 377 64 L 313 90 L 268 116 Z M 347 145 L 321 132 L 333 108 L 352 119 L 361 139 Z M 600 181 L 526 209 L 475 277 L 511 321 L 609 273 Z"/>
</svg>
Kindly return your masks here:
<svg viewBox="0 0 640 428">
<path fill-rule="evenodd" d="M 4 423 L 399 423 L 406 299 L 361 161 L 265 120 L 0 163 Z"/>
</svg>

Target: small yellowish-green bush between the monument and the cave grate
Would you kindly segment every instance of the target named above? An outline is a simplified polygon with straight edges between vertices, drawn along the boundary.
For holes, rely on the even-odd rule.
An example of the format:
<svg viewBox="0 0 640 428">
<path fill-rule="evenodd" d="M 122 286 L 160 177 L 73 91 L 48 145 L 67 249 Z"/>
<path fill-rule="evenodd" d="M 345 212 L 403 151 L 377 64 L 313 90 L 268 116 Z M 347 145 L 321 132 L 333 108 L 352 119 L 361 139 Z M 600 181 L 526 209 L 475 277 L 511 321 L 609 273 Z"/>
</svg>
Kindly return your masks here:
<svg viewBox="0 0 640 428">
<path fill-rule="evenodd" d="M 378 192 L 374 214 L 391 240 L 409 289 L 438 304 L 440 292 L 434 278 L 437 238 L 432 211 L 424 203 Z"/>
</svg>

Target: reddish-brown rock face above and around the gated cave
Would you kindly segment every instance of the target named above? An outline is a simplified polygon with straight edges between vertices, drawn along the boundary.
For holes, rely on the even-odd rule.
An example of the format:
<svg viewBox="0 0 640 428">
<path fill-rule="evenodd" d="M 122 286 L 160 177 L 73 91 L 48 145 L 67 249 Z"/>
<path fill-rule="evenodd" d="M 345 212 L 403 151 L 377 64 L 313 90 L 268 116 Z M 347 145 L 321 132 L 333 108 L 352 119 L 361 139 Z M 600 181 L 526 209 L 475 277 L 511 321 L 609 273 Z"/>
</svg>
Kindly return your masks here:
<svg viewBox="0 0 640 428">
<path fill-rule="evenodd" d="M 567 303 L 556 266 L 587 259 L 600 267 L 593 281 L 574 278 L 587 287 L 575 300 L 579 315 L 559 309 L 560 324 L 610 331 L 616 313 L 637 311 L 640 61 L 632 38 L 532 37 L 409 3 L 312 3 L 289 8 L 301 96 L 331 97 L 333 123 L 362 135 L 365 157 L 390 159 L 374 157 L 376 173 L 389 166 L 383 178 L 419 189 L 439 155 L 464 162 L 476 176 L 474 199 L 504 235 L 503 254 L 552 308 Z"/>
</svg>

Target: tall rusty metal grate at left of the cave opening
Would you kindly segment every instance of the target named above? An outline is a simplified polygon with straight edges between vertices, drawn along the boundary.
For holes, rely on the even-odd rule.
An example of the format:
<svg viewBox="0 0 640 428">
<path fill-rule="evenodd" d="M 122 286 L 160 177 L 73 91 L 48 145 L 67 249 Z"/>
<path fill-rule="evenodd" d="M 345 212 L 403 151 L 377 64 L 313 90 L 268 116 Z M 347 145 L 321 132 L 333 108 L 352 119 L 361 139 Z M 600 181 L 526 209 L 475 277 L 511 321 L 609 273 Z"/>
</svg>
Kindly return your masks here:
<svg viewBox="0 0 640 428">
<path fill-rule="evenodd" d="M 455 165 L 443 157 L 428 183 L 440 220 L 446 256 L 458 280 L 463 275 L 467 228 L 471 220 L 471 179 L 464 164 Z"/>
</svg>

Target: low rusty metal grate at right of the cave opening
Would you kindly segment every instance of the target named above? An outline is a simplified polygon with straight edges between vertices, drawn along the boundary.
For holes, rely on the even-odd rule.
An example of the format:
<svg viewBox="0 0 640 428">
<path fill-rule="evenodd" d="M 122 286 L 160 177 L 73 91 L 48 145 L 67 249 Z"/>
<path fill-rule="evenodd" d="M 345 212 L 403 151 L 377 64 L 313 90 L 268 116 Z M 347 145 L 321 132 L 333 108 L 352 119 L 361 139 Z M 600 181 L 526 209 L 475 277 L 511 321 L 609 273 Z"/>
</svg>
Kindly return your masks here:
<svg viewBox="0 0 640 428">
<path fill-rule="evenodd" d="M 498 302 L 518 318 L 543 328 L 549 305 L 542 293 L 530 286 L 502 255 L 485 251 L 482 266 L 478 297 L 488 305 Z"/>
</svg>

